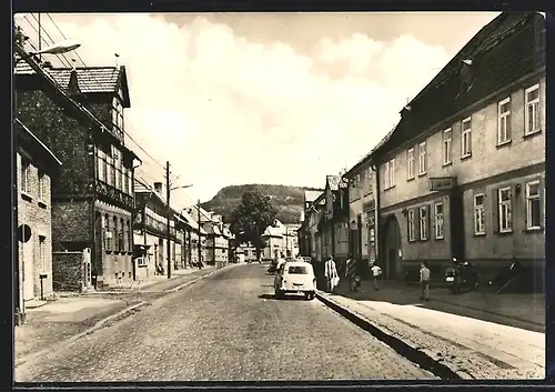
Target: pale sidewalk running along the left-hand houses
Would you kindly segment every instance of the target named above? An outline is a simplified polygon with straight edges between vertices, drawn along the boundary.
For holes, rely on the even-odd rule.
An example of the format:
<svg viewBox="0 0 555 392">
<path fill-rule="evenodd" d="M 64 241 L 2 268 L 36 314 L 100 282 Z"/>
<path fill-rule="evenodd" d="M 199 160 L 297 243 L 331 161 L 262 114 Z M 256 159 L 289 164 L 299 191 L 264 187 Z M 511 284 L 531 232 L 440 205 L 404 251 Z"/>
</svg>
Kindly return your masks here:
<svg viewBox="0 0 555 392">
<path fill-rule="evenodd" d="M 232 265 L 236 264 L 228 268 Z M 172 279 L 157 275 L 127 288 L 82 294 L 59 293 L 56 301 L 34 303 L 34 306 L 27 310 L 26 324 L 16 328 L 16 362 L 98 328 L 119 313 L 124 316 L 138 311 L 152 295 L 160 296 L 215 271 L 215 267 L 179 270 L 172 272 Z"/>
</svg>

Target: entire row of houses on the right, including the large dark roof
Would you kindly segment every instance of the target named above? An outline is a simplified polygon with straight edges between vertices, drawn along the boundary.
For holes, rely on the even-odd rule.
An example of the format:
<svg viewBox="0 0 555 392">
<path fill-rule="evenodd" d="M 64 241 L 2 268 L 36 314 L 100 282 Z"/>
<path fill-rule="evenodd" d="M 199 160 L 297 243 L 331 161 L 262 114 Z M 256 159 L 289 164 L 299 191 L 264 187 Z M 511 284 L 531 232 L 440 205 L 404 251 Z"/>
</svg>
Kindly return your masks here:
<svg viewBox="0 0 555 392">
<path fill-rule="evenodd" d="M 325 191 L 305 195 L 301 252 L 379 262 L 402 280 L 453 257 L 488 281 L 511 260 L 545 265 L 545 18 L 505 12 L 401 110 Z"/>
</svg>

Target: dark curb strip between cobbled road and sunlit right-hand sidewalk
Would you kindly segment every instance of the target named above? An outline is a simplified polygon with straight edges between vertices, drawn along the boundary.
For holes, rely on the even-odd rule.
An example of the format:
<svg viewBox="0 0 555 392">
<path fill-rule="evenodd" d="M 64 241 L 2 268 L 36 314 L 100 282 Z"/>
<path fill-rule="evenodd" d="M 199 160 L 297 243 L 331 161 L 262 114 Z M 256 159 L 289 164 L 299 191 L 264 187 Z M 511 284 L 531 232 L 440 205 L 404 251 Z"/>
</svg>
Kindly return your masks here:
<svg viewBox="0 0 555 392">
<path fill-rule="evenodd" d="M 405 342 L 403 342 L 401 339 L 389 334 L 377 328 L 376 325 L 372 324 L 370 321 L 365 320 L 365 318 L 359 315 L 357 313 L 346 309 L 343 305 L 337 304 L 335 301 L 326 298 L 326 295 L 323 295 L 321 292 L 316 292 L 316 299 L 324 303 L 326 306 L 335 311 L 336 313 L 341 314 L 355 325 L 362 328 L 364 331 L 369 332 L 372 334 L 374 338 L 380 340 L 381 342 L 385 343 L 389 345 L 391 349 L 393 349 L 396 353 L 398 353 L 401 356 L 406 358 L 413 363 L 416 363 L 420 368 L 427 370 L 435 376 L 442 379 L 442 380 L 468 380 L 473 379 L 470 374 L 458 372 L 455 370 L 450 369 L 447 365 L 441 363 L 438 360 L 433 359 L 432 356 L 427 355 L 424 353 L 422 350 L 418 350 L 417 348 L 414 348 Z"/>
</svg>

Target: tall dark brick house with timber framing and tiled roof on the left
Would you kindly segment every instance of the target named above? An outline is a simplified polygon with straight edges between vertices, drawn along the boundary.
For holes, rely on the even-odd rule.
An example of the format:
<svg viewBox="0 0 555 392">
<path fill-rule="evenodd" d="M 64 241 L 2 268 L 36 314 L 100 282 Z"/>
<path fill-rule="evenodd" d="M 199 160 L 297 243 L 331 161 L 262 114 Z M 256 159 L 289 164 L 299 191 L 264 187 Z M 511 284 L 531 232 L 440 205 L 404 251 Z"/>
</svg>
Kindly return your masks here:
<svg viewBox="0 0 555 392">
<path fill-rule="evenodd" d="M 20 48 L 18 48 L 20 50 Z M 52 250 L 63 287 L 79 287 L 63 268 L 89 250 L 87 279 L 97 287 L 132 279 L 133 172 L 124 145 L 130 107 L 124 67 L 42 68 L 32 58 L 16 69 L 16 112 L 62 162 L 52 182 Z"/>
</svg>

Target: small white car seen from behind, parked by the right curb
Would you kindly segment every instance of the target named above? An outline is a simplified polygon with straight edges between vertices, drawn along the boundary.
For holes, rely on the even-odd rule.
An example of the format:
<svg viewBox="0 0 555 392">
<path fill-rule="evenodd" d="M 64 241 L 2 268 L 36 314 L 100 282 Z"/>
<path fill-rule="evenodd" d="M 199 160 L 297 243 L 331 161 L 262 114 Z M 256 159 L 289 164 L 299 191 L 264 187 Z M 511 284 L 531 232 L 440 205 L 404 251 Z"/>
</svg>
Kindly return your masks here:
<svg viewBox="0 0 555 392">
<path fill-rule="evenodd" d="M 301 293 L 307 300 L 314 299 L 316 277 L 312 264 L 304 261 L 287 261 L 281 265 L 274 279 L 275 298 L 285 293 Z"/>
</svg>

